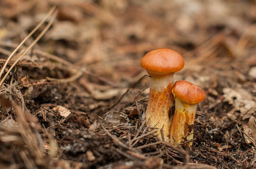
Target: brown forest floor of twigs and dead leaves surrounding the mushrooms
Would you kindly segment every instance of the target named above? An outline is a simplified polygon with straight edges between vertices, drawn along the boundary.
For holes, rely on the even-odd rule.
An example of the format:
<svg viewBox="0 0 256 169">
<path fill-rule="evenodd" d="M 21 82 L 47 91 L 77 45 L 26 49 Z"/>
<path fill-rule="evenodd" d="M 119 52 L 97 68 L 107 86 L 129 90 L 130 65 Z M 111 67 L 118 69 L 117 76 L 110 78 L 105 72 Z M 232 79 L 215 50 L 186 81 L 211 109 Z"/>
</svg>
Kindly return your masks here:
<svg viewBox="0 0 256 169">
<path fill-rule="evenodd" d="M 206 93 L 191 148 L 142 120 L 159 48 Z M 255 0 L 0 0 L 0 66 L 1 169 L 256 168 Z"/>
</svg>

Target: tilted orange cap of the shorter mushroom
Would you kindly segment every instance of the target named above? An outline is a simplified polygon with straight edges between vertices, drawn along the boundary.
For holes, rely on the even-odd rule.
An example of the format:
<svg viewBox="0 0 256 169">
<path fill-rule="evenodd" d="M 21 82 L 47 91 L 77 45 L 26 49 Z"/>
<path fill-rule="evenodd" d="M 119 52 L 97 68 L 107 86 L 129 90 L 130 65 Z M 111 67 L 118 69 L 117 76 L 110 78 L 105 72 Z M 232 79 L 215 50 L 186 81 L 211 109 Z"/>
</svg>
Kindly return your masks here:
<svg viewBox="0 0 256 169">
<path fill-rule="evenodd" d="M 175 97 L 187 104 L 198 104 L 205 98 L 204 91 L 200 87 L 185 80 L 176 81 L 171 91 Z"/>
</svg>

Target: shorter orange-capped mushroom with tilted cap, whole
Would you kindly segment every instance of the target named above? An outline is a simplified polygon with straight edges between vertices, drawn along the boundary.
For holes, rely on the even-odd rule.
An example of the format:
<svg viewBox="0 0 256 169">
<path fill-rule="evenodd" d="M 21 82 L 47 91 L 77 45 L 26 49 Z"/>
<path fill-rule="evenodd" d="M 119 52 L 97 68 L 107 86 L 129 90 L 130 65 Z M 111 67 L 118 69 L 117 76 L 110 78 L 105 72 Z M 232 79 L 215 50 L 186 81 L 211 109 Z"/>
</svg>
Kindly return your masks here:
<svg viewBox="0 0 256 169">
<path fill-rule="evenodd" d="M 170 129 L 170 142 L 177 146 L 193 139 L 192 125 L 197 105 L 204 100 L 205 94 L 200 87 L 185 80 L 175 82 L 171 91 L 175 99 L 175 113 Z M 192 141 L 187 145 L 192 146 Z"/>
</svg>

